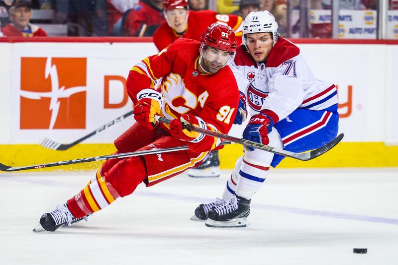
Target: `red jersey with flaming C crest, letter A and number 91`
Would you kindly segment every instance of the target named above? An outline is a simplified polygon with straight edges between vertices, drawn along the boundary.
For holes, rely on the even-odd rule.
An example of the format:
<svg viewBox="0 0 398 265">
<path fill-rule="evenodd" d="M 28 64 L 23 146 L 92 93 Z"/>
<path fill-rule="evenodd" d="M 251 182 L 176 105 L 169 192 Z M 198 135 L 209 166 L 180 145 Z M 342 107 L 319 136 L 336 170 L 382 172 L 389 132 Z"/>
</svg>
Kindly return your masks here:
<svg viewBox="0 0 398 265">
<path fill-rule="evenodd" d="M 168 119 L 181 114 L 200 117 L 208 130 L 228 133 L 239 102 L 239 91 L 229 66 L 213 74 L 200 73 L 197 65 L 200 43 L 179 39 L 159 54 L 145 58 L 133 66 L 126 86 L 134 105 L 137 94 L 158 84 L 164 100 L 161 115 Z M 168 127 L 165 128 L 168 131 Z M 205 136 L 200 144 L 204 150 L 215 148 L 219 139 Z"/>
</svg>

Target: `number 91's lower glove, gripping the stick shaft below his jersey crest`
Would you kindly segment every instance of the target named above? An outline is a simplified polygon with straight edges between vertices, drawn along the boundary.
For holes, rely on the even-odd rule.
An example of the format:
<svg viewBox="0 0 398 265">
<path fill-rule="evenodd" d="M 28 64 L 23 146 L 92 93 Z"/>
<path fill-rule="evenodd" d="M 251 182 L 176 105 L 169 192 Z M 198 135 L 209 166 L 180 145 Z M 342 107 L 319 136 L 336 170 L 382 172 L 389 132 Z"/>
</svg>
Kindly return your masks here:
<svg viewBox="0 0 398 265">
<path fill-rule="evenodd" d="M 198 142 L 203 137 L 204 134 L 197 133 L 194 131 L 188 131 L 185 129 L 186 124 L 192 124 L 193 126 L 206 128 L 206 124 L 202 119 L 191 114 L 183 114 L 180 119 L 174 119 L 170 122 L 170 133 L 174 138 L 183 141 Z M 204 127 L 203 127 L 204 126 Z"/>
</svg>

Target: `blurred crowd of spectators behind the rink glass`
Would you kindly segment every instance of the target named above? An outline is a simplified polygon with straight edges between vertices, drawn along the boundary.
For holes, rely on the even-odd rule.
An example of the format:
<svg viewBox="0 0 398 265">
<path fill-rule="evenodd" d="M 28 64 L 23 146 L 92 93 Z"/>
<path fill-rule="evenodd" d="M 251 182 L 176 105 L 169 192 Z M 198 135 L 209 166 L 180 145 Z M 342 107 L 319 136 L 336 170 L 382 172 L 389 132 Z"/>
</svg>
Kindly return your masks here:
<svg viewBox="0 0 398 265">
<path fill-rule="evenodd" d="M 287 1 L 293 10 L 300 4 L 299 0 L 213 1 L 219 14 L 243 19 L 251 11 L 269 10 L 281 36 L 287 34 Z M 339 5 L 340 9 L 376 10 L 377 1 L 339 0 Z M 188 0 L 188 4 L 193 11 L 209 9 L 209 0 Z M 311 0 L 310 4 L 311 9 L 331 9 L 331 0 Z M 398 9 L 398 0 L 389 0 L 389 9 Z M 166 21 L 165 14 L 163 0 L 0 0 L 0 36 L 47 36 L 46 31 L 55 25 L 61 25 L 57 36 L 153 36 Z M 330 24 L 318 25 L 312 35 L 331 37 Z"/>
</svg>

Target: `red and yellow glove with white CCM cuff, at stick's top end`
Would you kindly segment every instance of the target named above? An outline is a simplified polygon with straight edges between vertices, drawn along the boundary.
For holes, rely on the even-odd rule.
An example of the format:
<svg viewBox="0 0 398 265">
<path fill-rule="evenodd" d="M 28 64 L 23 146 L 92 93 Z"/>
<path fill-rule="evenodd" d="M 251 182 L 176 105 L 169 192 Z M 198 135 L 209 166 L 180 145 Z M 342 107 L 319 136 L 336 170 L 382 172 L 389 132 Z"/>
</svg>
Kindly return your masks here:
<svg viewBox="0 0 398 265">
<path fill-rule="evenodd" d="M 134 106 L 134 119 L 148 128 L 156 126 L 155 115 L 160 114 L 163 97 L 159 92 L 147 88 L 137 94 L 138 102 Z"/>
</svg>

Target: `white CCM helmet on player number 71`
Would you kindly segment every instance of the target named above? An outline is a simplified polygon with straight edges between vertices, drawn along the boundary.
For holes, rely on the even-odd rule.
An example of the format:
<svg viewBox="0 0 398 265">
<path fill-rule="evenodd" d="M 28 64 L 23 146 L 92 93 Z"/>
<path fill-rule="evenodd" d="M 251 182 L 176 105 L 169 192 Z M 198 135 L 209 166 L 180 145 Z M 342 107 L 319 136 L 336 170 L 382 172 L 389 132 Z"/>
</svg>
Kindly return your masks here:
<svg viewBox="0 0 398 265">
<path fill-rule="evenodd" d="M 246 45 L 246 34 L 270 32 L 274 45 L 278 41 L 278 23 L 270 11 L 250 12 L 243 21 L 242 43 Z"/>
</svg>

